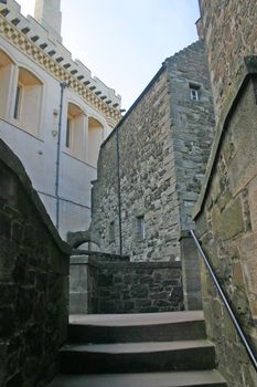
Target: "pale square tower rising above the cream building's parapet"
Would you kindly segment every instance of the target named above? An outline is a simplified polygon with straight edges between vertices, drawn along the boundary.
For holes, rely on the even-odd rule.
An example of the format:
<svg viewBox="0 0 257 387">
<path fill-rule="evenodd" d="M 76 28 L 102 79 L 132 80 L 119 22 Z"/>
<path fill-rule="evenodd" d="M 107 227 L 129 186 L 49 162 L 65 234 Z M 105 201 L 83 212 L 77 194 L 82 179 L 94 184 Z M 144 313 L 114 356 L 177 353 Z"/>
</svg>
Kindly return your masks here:
<svg viewBox="0 0 257 387">
<path fill-rule="evenodd" d="M 61 40 L 61 0 L 35 0 L 35 20 Z"/>
</svg>

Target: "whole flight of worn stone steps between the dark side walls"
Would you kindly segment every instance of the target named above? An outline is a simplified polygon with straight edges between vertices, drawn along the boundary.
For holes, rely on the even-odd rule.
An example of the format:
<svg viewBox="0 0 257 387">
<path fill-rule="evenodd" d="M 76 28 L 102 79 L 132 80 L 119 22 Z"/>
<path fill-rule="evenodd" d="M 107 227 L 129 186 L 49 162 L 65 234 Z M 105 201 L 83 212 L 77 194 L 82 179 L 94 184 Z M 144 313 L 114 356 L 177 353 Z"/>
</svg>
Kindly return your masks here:
<svg viewBox="0 0 257 387">
<path fill-rule="evenodd" d="M 225 387 L 202 312 L 74 315 L 49 387 Z"/>
</svg>

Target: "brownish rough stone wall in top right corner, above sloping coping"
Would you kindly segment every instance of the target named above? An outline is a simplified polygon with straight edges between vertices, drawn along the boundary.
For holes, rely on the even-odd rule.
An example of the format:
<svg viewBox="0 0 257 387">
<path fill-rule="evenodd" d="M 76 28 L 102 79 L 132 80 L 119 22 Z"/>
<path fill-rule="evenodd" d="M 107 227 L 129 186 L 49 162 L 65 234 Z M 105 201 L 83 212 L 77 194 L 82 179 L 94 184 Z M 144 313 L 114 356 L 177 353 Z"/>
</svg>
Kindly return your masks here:
<svg viewBox="0 0 257 387">
<path fill-rule="evenodd" d="M 257 52 L 255 0 L 200 0 L 217 116 L 232 92 L 243 57 Z"/>
</svg>

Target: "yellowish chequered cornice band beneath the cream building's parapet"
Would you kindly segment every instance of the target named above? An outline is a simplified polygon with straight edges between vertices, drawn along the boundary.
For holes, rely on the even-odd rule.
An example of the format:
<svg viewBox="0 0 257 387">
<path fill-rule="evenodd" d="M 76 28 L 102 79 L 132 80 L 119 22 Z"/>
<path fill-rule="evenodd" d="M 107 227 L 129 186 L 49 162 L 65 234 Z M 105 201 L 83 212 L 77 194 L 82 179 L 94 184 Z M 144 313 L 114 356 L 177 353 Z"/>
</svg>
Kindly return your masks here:
<svg viewBox="0 0 257 387">
<path fill-rule="evenodd" d="M 118 124 L 121 117 L 119 106 L 117 108 L 108 106 L 88 86 L 84 85 L 77 76 L 65 70 L 51 55 L 44 52 L 43 49 L 38 46 L 30 38 L 18 30 L 15 25 L 8 21 L 2 14 L 0 14 L 0 34 L 58 82 L 69 82 L 71 88 L 74 90 L 74 92 L 77 93 L 86 104 L 103 114 L 110 127 Z"/>
</svg>

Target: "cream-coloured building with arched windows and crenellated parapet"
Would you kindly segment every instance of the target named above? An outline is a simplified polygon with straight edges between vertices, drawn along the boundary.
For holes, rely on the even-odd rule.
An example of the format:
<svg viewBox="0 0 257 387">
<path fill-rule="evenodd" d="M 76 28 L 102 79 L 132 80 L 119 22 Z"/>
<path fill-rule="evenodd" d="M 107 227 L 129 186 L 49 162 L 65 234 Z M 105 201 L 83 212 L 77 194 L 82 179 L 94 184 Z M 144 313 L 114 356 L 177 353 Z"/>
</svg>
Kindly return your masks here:
<svg viewBox="0 0 257 387">
<path fill-rule="evenodd" d="M 89 227 L 90 181 L 120 96 L 72 59 L 61 19 L 61 0 L 35 0 L 34 18 L 13 0 L 0 3 L 0 137 L 65 239 Z"/>
</svg>

